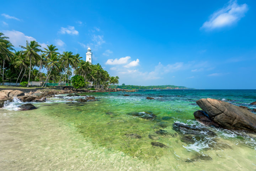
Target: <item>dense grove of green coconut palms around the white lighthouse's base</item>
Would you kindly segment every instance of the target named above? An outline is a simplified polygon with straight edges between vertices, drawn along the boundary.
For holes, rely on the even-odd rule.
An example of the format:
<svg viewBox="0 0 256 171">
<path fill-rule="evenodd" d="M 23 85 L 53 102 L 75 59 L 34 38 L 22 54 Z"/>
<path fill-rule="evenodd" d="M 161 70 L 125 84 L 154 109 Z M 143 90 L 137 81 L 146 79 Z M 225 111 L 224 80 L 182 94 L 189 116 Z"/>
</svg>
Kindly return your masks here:
<svg viewBox="0 0 256 171">
<path fill-rule="evenodd" d="M 82 87 L 103 89 L 119 83 L 118 76 L 110 76 L 100 64 L 85 62 L 79 54 L 60 54 L 52 44 L 41 49 L 36 41 L 27 41 L 26 46 L 20 46 L 22 51 L 16 51 L 8 39 L 0 32 L 1 82 L 42 81 L 43 87 L 47 82 L 55 85 L 70 83 L 72 75 L 79 75 L 84 81 Z"/>
</svg>

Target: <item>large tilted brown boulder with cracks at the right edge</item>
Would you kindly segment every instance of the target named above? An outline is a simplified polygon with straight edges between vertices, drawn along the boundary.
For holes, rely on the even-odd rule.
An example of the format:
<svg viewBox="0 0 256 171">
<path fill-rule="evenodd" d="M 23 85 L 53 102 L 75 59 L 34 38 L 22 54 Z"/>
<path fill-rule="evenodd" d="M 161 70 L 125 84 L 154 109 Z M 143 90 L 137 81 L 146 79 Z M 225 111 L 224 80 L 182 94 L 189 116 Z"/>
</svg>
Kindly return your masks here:
<svg viewBox="0 0 256 171">
<path fill-rule="evenodd" d="M 226 129 L 256 132 L 256 115 L 247 109 L 211 98 L 202 98 L 196 103 L 209 118 Z"/>
</svg>

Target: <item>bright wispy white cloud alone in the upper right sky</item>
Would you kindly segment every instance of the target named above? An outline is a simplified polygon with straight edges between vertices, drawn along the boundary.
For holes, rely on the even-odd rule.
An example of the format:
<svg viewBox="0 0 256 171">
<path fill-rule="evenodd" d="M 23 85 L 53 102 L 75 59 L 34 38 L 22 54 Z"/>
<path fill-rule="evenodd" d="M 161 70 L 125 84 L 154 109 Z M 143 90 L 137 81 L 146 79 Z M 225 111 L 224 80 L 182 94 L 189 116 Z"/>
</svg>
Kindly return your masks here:
<svg viewBox="0 0 256 171">
<path fill-rule="evenodd" d="M 236 0 L 230 0 L 228 5 L 217 12 L 214 12 L 210 19 L 203 23 L 201 28 L 213 30 L 225 26 L 233 25 L 245 16 L 248 11 L 247 4 L 239 5 Z"/>
</svg>

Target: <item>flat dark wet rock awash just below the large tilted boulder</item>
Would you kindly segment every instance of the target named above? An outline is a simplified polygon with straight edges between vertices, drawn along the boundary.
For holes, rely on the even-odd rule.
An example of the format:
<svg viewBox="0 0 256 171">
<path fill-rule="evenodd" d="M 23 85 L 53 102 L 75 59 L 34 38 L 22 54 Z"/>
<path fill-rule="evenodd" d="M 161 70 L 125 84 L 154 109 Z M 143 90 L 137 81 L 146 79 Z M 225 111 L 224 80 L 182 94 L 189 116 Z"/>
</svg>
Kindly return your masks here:
<svg viewBox="0 0 256 171">
<path fill-rule="evenodd" d="M 183 134 L 207 134 L 207 135 L 210 135 L 210 136 L 215 136 L 216 135 L 213 131 L 208 130 L 206 128 L 199 129 L 199 128 L 195 128 L 195 127 L 190 126 L 190 125 L 185 125 L 185 124 L 177 123 L 177 122 L 172 124 L 172 128 L 174 130 L 176 130 L 177 132 L 180 132 L 180 133 L 183 133 Z"/>
</svg>

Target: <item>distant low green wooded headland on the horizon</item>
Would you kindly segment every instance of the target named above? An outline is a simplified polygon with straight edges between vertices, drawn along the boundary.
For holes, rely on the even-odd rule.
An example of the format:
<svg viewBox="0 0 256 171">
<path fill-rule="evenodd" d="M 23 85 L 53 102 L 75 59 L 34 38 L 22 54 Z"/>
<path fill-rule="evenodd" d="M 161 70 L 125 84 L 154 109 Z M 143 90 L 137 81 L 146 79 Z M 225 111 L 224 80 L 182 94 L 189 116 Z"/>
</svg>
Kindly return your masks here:
<svg viewBox="0 0 256 171">
<path fill-rule="evenodd" d="M 160 85 L 160 86 L 136 86 L 136 85 L 118 85 L 118 89 L 191 89 L 185 86 L 174 86 L 174 85 Z"/>
</svg>

